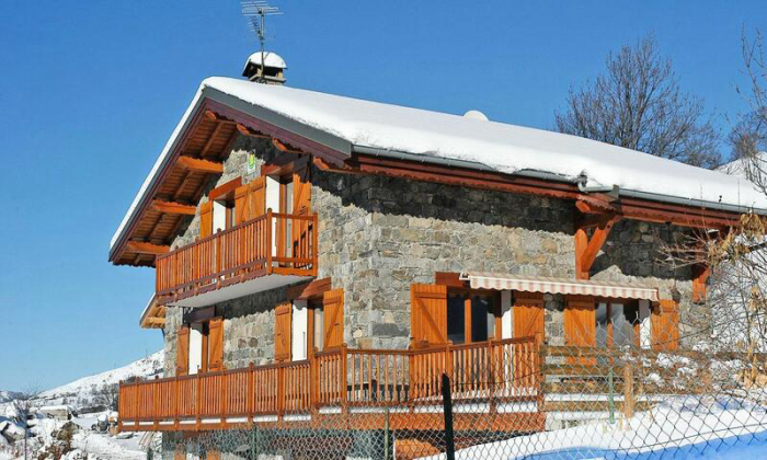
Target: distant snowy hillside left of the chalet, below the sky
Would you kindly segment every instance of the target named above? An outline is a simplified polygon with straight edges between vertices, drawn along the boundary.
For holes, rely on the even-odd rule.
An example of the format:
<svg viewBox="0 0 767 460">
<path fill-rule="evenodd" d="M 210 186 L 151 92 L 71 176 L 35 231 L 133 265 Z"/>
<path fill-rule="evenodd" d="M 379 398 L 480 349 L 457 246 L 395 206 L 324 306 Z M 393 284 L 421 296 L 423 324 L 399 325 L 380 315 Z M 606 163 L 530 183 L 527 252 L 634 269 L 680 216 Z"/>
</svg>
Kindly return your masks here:
<svg viewBox="0 0 767 460">
<path fill-rule="evenodd" d="M 94 395 L 104 387 L 117 384 L 121 380 L 134 377 L 162 377 L 164 350 L 153 353 L 146 358 L 116 369 L 83 377 L 61 387 L 44 391 L 38 396 L 38 404 L 69 404 L 80 410 L 93 403 Z"/>
</svg>

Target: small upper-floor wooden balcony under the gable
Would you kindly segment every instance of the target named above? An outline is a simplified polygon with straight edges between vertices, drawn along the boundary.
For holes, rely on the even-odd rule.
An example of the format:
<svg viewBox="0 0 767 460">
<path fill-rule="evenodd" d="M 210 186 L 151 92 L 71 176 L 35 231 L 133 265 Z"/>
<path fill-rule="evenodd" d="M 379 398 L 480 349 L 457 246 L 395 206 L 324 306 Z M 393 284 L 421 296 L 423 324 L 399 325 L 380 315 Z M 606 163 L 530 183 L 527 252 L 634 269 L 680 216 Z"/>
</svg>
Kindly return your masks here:
<svg viewBox="0 0 767 460">
<path fill-rule="evenodd" d="M 204 307 L 317 275 L 317 215 L 266 214 L 157 258 L 160 304 Z M 233 288 L 234 285 L 239 285 Z"/>
</svg>

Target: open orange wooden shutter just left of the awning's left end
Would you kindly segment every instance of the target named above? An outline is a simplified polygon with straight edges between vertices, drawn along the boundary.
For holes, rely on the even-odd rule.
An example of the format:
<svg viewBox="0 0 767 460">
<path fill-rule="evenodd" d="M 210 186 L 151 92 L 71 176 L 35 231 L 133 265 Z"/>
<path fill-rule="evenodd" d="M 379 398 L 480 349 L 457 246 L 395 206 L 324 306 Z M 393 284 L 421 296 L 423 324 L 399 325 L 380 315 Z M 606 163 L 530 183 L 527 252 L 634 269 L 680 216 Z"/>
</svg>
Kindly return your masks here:
<svg viewBox="0 0 767 460">
<path fill-rule="evenodd" d="M 447 342 L 447 286 L 410 286 L 410 333 L 415 345 Z"/>
</svg>

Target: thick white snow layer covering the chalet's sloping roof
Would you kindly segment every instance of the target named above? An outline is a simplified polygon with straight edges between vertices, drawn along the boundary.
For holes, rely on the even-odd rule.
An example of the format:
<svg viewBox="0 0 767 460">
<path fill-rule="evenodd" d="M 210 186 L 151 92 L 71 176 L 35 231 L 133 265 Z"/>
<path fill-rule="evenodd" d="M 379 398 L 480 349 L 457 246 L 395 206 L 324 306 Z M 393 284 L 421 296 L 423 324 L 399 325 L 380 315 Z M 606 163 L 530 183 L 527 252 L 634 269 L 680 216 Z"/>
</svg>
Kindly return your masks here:
<svg viewBox="0 0 767 460">
<path fill-rule="evenodd" d="M 588 177 L 588 186 L 682 200 L 767 209 L 748 181 L 634 150 L 542 129 L 384 104 L 296 88 L 213 77 L 204 80 L 112 239 L 114 246 L 156 180 L 176 137 L 202 99 L 225 94 L 241 111 L 267 113 L 291 127 L 322 133 L 352 149 L 405 152 L 424 160 L 480 163 L 503 173 L 546 172 Z"/>
</svg>

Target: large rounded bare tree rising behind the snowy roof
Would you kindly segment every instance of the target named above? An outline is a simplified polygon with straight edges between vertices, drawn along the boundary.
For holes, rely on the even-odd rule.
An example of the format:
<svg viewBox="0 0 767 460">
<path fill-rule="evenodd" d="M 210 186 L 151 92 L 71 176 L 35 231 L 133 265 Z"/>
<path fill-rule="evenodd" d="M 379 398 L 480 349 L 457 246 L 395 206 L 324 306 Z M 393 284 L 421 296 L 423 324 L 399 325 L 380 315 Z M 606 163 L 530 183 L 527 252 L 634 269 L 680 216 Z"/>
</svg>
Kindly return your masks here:
<svg viewBox="0 0 767 460">
<path fill-rule="evenodd" d="M 703 102 L 683 93 L 672 62 L 652 35 L 607 56 L 594 82 L 571 88 L 557 129 L 685 163 L 721 163 L 720 135 L 705 117 Z"/>
</svg>

